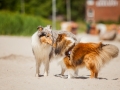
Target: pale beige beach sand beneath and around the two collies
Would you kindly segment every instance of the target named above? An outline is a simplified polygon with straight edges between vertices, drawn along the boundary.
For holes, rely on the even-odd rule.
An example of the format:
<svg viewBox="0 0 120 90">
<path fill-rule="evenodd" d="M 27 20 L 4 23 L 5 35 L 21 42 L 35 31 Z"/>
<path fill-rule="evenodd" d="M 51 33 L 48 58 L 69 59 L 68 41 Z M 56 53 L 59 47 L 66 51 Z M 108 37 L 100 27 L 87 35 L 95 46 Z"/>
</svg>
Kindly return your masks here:
<svg viewBox="0 0 120 90">
<path fill-rule="evenodd" d="M 97 36 L 78 37 L 85 37 L 82 38 L 85 42 L 99 41 Z M 103 43 L 120 48 L 120 42 L 117 41 Z M 120 55 L 101 69 L 98 79 L 90 79 L 90 72 L 86 68 L 80 69 L 79 77 L 75 79 L 56 77 L 60 70 L 57 61 L 53 60 L 49 76 L 35 77 L 31 37 L 0 36 L 0 90 L 120 90 Z"/>
</svg>

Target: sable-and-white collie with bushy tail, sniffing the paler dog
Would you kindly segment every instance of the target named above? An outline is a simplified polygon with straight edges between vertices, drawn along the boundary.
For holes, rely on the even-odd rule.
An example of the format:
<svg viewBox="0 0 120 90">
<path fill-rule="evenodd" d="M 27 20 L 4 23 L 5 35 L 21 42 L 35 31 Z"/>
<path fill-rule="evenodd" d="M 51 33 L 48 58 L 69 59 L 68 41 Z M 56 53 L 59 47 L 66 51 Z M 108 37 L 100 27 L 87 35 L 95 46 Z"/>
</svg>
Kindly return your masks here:
<svg viewBox="0 0 120 90">
<path fill-rule="evenodd" d="M 49 37 L 41 38 L 46 43 L 51 44 Z M 111 59 L 118 56 L 119 49 L 111 44 L 100 43 L 75 43 L 74 39 L 59 34 L 56 42 L 52 44 L 56 54 L 64 56 L 62 67 L 63 73 L 68 70 L 68 78 L 72 78 L 71 70 L 78 74 L 78 69 L 86 66 L 91 72 L 90 78 L 97 78 L 101 67 Z"/>
</svg>

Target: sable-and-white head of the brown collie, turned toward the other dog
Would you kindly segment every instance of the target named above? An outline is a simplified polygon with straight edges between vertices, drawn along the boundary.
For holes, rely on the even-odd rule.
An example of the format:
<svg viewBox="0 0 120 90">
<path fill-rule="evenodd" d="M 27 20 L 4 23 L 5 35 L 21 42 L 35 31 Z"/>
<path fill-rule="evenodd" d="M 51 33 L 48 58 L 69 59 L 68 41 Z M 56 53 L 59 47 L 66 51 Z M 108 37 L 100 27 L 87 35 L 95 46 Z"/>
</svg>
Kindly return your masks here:
<svg viewBox="0 0 120 90">
<path fill-rule="evenodd" d="M 58 55 L 64 55 L 75 44 L 75 40 L 66 34 L 58 34 L 55 42 L 53 42 L 51 36 L 41 37 L 41 40 L 52 45 L 55 48 L 55 54 Z"/>
</svg>

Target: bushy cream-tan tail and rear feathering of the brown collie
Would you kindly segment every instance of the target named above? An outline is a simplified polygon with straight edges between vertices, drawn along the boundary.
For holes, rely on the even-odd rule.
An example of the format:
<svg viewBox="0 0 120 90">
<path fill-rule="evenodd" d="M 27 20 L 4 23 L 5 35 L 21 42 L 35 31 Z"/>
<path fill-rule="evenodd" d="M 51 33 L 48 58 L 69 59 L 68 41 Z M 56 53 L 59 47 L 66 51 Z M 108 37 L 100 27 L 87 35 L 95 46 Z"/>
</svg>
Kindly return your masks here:
<svg viewBox="0 0 120 90">
<path fill-rule="evenodd" d="M 97 70 L 111 59 L 118 56 L 119 49 L 112 44 L 102 44 L 99 54 L 96 56 L 95 66 Z"/>
</svg>

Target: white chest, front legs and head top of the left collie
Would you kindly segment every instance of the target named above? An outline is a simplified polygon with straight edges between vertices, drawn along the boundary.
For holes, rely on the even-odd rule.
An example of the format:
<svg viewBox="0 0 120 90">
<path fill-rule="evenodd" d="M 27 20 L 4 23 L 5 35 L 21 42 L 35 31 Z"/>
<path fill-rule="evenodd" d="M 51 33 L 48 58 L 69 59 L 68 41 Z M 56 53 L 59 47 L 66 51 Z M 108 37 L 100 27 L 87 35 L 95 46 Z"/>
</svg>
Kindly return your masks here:
<svg viewBox="0 0 120 90">
<path fill-rule="evenodd" d="M 49 70 L 49 61 L 51 58 L 52 46 L 44 43 L 40 40 L 40 38 L 44 35 L 49 35 L 51 33 L 50 26 L 37 28 L 37 31 L 32 35 L 32 50 L 36 59 L 36 77 L 40 76 L 40 65 L 43 63 L 44 76 L 48 75 Z"/>
</svg>

